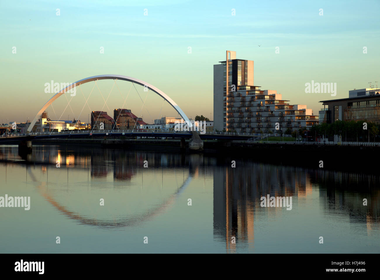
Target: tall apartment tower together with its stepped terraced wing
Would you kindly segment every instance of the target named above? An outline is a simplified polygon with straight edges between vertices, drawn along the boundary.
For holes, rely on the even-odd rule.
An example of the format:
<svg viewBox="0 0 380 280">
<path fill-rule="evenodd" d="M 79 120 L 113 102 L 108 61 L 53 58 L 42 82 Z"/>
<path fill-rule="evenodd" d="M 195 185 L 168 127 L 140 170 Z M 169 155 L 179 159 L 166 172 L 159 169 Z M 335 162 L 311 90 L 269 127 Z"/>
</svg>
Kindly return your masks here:
<svg viewBox="0 0 380 280">
<path fill-rule="evenodd" d="M 253 61 L 226 51 L 226 60 L 214 65 L 214 130 L 270 133 L 318 124 L 306 105 L 291 105 L 275 90 L 259 88 L 253 85 Z"/>
</svg>

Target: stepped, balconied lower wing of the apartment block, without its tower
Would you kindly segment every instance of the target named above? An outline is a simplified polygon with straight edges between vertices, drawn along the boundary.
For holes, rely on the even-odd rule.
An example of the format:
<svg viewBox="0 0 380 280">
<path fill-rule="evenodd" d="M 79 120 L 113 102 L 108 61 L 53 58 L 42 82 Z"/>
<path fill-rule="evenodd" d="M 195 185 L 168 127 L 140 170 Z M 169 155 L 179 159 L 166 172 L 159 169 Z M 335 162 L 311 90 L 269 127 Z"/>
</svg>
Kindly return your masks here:
<svg viewBox="0 0 380 280">
<path fill-rule="evenodd" d="M 260 90 L 258 86 L 238 86 L 228 93 L 226 120 L 228 131 L 238 133 L 275 133 L 299 128 L 309 130 L 318 124 L 318 116 L 306 105 L 291 105 L 276 90 Z M 279 123 L 279 130 L 275 129 Z"/>
</svg>

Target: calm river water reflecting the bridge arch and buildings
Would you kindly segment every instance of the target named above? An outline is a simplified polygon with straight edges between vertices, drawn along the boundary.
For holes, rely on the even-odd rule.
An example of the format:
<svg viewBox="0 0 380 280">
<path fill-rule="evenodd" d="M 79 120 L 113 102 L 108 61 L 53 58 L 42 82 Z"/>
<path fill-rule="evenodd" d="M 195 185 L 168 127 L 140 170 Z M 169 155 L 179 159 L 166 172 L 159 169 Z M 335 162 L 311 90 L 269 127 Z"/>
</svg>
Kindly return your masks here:
<svg viewBox="0 0 380 280">
<path fill-rule="evenodd" d="M 1 253 L 380 253 L 380 176 L 75 146 L 0 160 L 0 196 L 31 201 L 0 208 Z"/>
</svg>

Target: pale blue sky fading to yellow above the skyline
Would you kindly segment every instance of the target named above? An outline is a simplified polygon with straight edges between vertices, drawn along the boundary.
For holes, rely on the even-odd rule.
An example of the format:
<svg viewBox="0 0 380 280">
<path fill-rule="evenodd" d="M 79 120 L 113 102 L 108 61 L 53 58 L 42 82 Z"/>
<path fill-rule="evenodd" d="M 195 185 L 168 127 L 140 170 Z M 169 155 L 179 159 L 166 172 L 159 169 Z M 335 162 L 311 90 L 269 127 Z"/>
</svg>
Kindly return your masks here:
<svg viewBox="0 0 380 280">
<path fill-rule="evenodd" d="M 188 117 L 213 119 L 213 65 L 226 50 L 254 61 L 255 85 L 318 115 L 318 101 L 380 81 L 379 11 L 378 0 L 2 1 L 0 121 L 32 120 L 54 95 L 46 83 L 101 74 L 146 81 Z M 336 96 L 306 93 L 312 81 L 336 83 Z M 90 111 L 112 116 L 121 107 L 146 122 L 178 116 L 155 93 L 126 81 L 88 83 L 66 97 L 47 108 L 51 119 L 87 121 Z"/>
</svg>

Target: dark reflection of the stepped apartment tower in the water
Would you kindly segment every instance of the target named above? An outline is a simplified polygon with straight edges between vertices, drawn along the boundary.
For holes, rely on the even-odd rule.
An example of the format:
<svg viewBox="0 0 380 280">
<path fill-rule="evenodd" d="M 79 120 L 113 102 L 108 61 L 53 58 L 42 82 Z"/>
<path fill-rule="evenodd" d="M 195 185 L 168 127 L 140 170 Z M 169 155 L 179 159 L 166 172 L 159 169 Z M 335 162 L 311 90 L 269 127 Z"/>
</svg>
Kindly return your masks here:
<svg viewBox="0 0 380 280">
<path fill-rule="evenodd" d="M 214 171 L 214 237 L 234 252 L 235 236 L 240 245 L 253 251 L 254 215 L 260 213 L 261 196 L 310 196 L 309 176 L 299 168 L 245 163 L 239 169 L 217 167 Z M 269 209 L 268 209 L 269 210 Z M 277 218 L 285 209 L 270 210 Z M 285 210 L 286 211 L 286 210 Z"/>
</svg>

